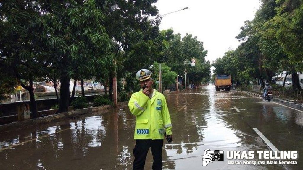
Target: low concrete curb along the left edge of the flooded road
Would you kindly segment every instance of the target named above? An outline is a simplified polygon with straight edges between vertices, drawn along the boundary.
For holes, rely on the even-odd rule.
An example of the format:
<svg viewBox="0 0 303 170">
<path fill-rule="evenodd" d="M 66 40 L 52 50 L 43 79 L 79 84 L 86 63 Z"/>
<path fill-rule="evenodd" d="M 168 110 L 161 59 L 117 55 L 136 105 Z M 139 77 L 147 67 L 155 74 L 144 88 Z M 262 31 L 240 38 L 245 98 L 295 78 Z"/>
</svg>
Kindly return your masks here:
<svg viewBox="0 0 303 170">
<path fill-rule="evenodd" d="M 128 103 L 128 101 L 119 102 L 117 107 L 125 105 L 127 103 Z M 98 107 L 89 107 L 89 108 L 71 110 L 71 111 L 64 112 L 64 113 L 58 113 L 58 114 L 54 114 L 54 115 L 39 117 L 36 119 L 25 120 L 22 122 L 8 123 L 8 124 L 0 125 L 0 133 L 5 132 L 5 131 L 10 131 L 13 129 L 14 130 L 21 129 L 26 126 L 33 126 L 33 125 L 39 125 L 41 123 L 48 123 L 48 122 L 52 122 L 52 121 L 62 119 L 62 118 L 74 117 L 77 115 L 93 113 L 96 111 L 108 110 L 110 108 L 113 108 L 113 106 L 105 105 L 105 106 L 98 106 Z"/>
</svg>

